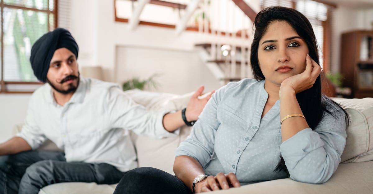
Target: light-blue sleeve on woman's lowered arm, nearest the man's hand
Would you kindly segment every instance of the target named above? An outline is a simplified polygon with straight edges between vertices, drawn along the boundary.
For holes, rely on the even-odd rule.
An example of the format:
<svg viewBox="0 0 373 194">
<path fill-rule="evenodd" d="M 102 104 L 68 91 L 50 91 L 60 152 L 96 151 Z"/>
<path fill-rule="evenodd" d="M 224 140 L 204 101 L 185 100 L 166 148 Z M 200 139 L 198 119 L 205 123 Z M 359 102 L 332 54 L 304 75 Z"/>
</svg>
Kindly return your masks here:
<svg viewBox="0 0 373 194">
<path fill-rule="evenodd" d="M 226 86 L 220 88 L 211 96 L 194 124 L 191 134 L 176 149 L 176 156 L 190 156 L 203 168 L 209 164 L 214 152 L 215 133 L 220 125 L 217 120 L 217 106 L 225 93 L 225 88 Z"/>
</svg>

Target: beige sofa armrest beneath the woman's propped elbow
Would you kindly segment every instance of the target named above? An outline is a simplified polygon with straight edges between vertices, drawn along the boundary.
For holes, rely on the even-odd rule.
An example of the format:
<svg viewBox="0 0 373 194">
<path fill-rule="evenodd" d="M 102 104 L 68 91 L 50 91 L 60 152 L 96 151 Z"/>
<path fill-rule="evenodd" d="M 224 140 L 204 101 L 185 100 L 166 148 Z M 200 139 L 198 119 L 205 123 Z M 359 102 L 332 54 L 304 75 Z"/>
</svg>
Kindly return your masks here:
<svg viewBox="0 0 373 194">
<path fill-rule="evenodd" d="M 373 161 L 339 164 L 329 181 L 323 184 L 308 184 L 291 178 L 265 181 L 240 188 L 214 191 L 214 194 L 368 194 L 373 191 Z"/>
</svg>

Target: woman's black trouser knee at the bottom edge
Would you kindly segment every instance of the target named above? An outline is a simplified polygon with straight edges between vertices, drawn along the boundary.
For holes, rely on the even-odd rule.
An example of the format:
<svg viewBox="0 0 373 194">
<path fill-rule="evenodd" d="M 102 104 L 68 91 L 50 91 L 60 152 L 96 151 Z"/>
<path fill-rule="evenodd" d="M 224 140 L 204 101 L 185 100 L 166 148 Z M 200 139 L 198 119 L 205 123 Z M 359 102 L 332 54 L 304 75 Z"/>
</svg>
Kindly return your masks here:
<svg viewBox="0 0 373 194">
<path fill-rule="evenodd" d="M 114 194 L 191 194 L 177 177 L 156 168 L 143 167 L 126 172 Z"/>
</svg>

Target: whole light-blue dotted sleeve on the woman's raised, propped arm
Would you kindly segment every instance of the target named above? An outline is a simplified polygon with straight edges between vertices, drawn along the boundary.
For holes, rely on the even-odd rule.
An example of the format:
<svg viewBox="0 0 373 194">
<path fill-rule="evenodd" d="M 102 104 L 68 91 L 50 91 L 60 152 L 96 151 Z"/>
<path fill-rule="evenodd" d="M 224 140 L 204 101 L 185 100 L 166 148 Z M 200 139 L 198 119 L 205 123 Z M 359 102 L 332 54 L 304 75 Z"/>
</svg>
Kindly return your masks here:
<svg viewBox="0 0 373 194">
<path fill-rule="evenodd" d="M 336 171 L 346 144 L 345 113 L 325 113 L 315 130 L 306 128 L 284 141 L 280 152 L 293 180 L 320 184 Z"/>
</svg>

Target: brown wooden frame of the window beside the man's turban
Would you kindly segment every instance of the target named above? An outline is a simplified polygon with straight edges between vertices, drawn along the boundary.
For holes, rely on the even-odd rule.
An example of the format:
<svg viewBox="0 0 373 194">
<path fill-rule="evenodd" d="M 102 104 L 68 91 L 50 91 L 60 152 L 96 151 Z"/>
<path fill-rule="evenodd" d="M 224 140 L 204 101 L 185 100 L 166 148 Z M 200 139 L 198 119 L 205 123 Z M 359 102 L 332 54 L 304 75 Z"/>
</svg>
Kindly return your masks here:
<svg viewBox="0 0 373 194">
<path fill-rule="evenodd" d="M 53 11 L 49 10 L 49 2 L 53 1 Z M 30 84 L 30 85 L 42 85 L 44 83 L 41 82 L 27 82 L 27 81 L 4 81 L 4 44 L 3 44 L 3 23 L 4 23 L 4 8 L 10 8 L 10 9 L 22 9 L 22 10 L 30 10 L 30 11 L 35 11 L 35 12 L 44 12 L 47 13 L 47 23 L 48 27 L 47 29 L 50 29 L 50 22 L 49 22 L 49 16 L 50 14 L 53 14 L 54 17 L 54 26 L 53 28 L 57 28 L 58 26 L 58 0 L 47 0 L 47 5 L 48 8 L 46 10 L 43 9 L 36 9 L 36 8 L 30 8 L 30 7 L 24 7 L 24 6 L 18 6 L 18 5 L 9 5 L 5 4 L 3 0 L 0 1 L 0 8 L 1 8 L 1 77 L 0 77 L 0 85 L 1 85 L 1 90 L 0 93 L 5 93 L 5 94 L 31 94 L 34 91 L 8 91 L 6 90 L 7 85 L 21 85 L 21 84 Z"/>
</svg>

